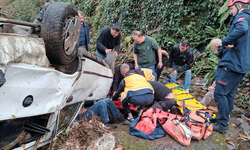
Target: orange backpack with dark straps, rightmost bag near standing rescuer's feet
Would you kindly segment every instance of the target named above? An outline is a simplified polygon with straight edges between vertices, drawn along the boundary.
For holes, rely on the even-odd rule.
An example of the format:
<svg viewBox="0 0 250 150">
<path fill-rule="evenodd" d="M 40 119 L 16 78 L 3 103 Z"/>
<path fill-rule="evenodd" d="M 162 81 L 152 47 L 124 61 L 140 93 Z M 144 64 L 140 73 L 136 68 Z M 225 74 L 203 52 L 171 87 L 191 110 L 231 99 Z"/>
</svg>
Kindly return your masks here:
<svg viewBox="0 0 250 150">
<path fill-rule="evenodd" d="M 192 131 L 192 139 L 207 139 L 212 131 L 213 126 L 209 119 L 212 117 L 209 115 L 209 110 L 186 110 L 184 112 L 184 118 L 182 122 L 185 123 Z"/>
</svg>

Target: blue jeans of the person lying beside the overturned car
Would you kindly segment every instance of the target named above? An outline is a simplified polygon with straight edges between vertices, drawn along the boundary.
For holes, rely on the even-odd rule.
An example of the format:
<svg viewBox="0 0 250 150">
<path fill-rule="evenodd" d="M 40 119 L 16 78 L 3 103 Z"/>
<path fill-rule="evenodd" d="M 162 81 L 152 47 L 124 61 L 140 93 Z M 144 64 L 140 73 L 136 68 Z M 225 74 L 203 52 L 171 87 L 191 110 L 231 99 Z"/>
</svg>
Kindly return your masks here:
<svg viewBox="0 0 250 150">
<path fill-rule="evenodd" d="M 76 120 L 81 120 L 83 118 L 92 119 L 93 113 L 96 116 L 100 116 L 103 123 L 109 122 L 108 110 L 114 118 L 121 116 L 120 111 L 116 108 L 114 102 L 111 99 L 100 100 L 93 106 L 89 107 L 87 111 L 83 114 L 79 114 Z"/>
</svg>

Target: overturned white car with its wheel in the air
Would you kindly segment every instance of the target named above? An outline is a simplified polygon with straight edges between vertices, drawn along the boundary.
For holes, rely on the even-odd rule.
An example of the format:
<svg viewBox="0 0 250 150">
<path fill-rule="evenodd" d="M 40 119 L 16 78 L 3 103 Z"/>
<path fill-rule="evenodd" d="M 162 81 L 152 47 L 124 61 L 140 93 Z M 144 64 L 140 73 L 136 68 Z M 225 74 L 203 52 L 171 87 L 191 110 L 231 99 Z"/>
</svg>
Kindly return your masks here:
<svg viewBox="0 0 250 150">
<path fill-rule="evenodd" d="M 40 30 L 41 38 L 16 34 L 25 32 L 24 26 Z M 0 70 L 6 79 L 0 85 L 0 149 L 48 144 L 85 102 L 107 97 L 114 61 L 108 65 L 78 52 L 80 25 L 72 5 L 52 3 L 41 24 L 0 18 L 0 31 Z"/>
</svg>

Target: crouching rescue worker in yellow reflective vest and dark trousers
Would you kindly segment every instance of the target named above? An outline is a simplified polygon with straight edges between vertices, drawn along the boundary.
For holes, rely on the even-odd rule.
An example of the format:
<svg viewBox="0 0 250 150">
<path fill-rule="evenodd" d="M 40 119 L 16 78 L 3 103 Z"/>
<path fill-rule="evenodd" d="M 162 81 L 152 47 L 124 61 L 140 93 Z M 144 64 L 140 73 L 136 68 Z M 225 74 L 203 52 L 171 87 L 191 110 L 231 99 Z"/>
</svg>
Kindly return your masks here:
<svg viewBox="0 0 250 150">
<path fill-rule="evenodd" d="M 128 114 L 128 121 L 133 121 L 134 118 L 129 109 L 129 103 L 135 106 L 140 106 L 140 111 L 144 109 L 145 105 L 149 105 L 154 100 L 152 86 L 147 80 L 134 70 L 130 70 L 125 74 L 125 78 L 121 81 L 118 90 L 116 91 L 113 101 L 117 100 L 121 94 L 122 106 L 124 113 Z"/>
</svg>

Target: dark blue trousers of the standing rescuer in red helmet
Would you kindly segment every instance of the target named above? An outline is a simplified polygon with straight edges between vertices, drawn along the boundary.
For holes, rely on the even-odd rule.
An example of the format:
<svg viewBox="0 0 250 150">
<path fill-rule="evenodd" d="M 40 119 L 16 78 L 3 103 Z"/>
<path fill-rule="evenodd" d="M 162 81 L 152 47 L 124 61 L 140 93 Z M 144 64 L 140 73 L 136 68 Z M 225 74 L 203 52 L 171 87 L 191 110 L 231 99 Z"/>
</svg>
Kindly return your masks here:
<svg viewBox="0 0 250 150">
<path fill-rule="evenodd" d="M 214 99 L 219 112 L 218 123 L 226 127 L 228 126 L 229 115 L 233 110 L 237 89 L 245 74 L 233 72 L 227 67 L 218 69 Z"/>
</svg>

